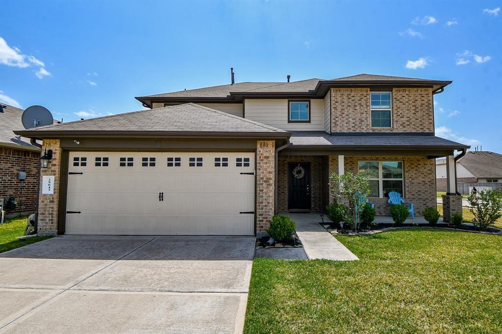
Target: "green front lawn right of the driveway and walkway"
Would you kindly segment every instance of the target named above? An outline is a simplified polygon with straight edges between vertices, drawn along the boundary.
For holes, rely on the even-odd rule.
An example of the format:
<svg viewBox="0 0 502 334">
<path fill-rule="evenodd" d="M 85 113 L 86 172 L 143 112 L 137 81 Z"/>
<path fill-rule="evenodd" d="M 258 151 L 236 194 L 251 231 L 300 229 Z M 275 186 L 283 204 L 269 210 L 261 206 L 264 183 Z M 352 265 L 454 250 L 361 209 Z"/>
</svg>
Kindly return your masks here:
<svg viewBox="0 0 502 334">
<path fill-rule="evenodd" d="M 244 332 L 502 332 L 502 237 L 337 239 L 360 260 L 255 259 Z"/>
</svg>

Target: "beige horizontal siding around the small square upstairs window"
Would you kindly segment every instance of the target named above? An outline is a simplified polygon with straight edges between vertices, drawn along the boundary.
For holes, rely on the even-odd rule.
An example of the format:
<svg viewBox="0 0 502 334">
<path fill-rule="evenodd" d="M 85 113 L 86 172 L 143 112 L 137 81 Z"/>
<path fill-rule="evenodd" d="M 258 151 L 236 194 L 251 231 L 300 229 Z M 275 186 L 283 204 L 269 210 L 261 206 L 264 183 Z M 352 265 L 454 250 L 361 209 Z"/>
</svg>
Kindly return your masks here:
<svg viewBox="0 0 502 334">
<path fill-rule="evenodd" d="M 323 131 L 324 100 L 310 100 L 310 123 L 288 123 L 287 99 L 246 99 L 245 118 L 287 131 Z"/>
</svg>

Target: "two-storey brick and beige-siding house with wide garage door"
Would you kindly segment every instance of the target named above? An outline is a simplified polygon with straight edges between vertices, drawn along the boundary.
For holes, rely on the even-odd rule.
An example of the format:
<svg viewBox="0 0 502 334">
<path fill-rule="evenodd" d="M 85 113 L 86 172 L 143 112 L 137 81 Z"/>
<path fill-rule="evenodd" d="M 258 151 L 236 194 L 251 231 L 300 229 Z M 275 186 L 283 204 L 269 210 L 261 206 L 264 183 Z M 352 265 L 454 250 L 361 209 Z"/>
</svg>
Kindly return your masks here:
<svg viewBox="0 0 502 334">
<path fill-rule="evenodd" d="M 367 74 L 244 82 L 17 131 L 53 150 L 40 233 L 253 235 L 274 213 L 322 211 L 328 176 L 344 172 L 369 178 L 378 215 L 389 214 L 391 191 L 420 214 L 436 205 L 435 159 L 451 165 L 469 148 L 434 135 L 433 95 L 450 83 Z"/>
</svg>

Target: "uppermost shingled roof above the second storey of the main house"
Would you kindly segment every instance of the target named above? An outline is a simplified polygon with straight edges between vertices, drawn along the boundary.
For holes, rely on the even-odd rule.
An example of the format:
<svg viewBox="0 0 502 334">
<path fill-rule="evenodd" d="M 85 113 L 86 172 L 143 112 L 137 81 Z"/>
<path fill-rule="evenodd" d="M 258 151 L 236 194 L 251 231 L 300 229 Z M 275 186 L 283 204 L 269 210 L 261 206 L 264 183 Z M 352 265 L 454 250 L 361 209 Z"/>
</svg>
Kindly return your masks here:
<svg viewBox="0 0 502 334">
<path fill-rule="evenodd" d="M 154 101 L 241 101 L 245 97 L 302 97 L 323 98 L 329 87 L 354 86 L 404 86 L 432 87 L 438 90 L 451 81 L 429 80 L 420 78 L 395 77 L 388 75 L 357 74 L 331 80 L 307 79 L 293 82 L 241 82 L 233 85 L 221 85 L 206 88 L 182 90 L 172 93 L 136 97 L 137 100 L 151 106 Z"/>
</svg>

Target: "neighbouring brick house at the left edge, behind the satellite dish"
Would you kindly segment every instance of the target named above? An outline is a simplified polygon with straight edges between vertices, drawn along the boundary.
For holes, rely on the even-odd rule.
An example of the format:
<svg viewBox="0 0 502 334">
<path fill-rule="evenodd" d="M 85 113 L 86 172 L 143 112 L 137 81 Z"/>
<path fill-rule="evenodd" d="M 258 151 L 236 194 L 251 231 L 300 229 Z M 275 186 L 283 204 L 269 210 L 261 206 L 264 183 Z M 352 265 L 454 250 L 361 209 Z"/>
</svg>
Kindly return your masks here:
<svg viewBox="0 0 502 334">
<path fill-rule="evenodd" d="M 14 133 L 24 129 L 22 114 L 21 109 L 0 104 L 0 198 L 8 216 L 35 212 L 37 206 L 40 148 Z M 9 209 L 14 202 L 16 208 Z"/>
</svg>

